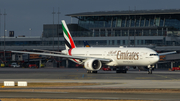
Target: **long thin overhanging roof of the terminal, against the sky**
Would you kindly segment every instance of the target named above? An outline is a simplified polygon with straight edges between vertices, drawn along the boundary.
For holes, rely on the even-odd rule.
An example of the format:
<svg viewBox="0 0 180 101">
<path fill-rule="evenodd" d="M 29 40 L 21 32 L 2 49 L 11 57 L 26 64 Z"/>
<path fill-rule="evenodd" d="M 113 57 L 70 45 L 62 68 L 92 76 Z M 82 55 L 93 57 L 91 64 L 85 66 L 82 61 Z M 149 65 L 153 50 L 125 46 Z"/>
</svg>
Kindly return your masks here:
<svg viewBox="0 0 180 101">
<path fill-rule="evenodd" d="M 154 15 L 154 14 L 180 14 L 180 9 L 97 11 L 97 12 L 67 14 L 66 16 L 76 17 L 76 16 Z"/>
</svg>

